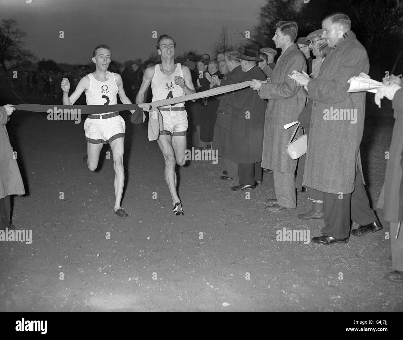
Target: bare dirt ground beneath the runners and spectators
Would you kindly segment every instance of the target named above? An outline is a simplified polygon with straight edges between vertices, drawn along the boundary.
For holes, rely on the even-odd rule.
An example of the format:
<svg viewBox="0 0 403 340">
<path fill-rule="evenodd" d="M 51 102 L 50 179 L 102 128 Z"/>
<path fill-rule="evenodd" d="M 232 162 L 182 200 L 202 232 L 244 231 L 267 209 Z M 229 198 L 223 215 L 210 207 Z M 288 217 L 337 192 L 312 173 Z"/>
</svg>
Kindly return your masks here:
<svg viewBox="0 0 403 340">
<path fill-rule="evenodd" d="M 277 241 L 283 228 L 320 235 L 322 222 L 296 217 L 309 208 L 305 193 L 295 212 L 265 212 L 272 175 L 247 199 L 230 190 L 236 180 L 220 179 L 220 159 L 181 167 L 185 216 L 174 216 L 157 143 L 123 115 L 127 219 L 112 212 L 110 148 L 96 172 L 82 163 L 83 122 L 13 113 L 8 129 L 28 192 L 14 199 L 13 224 L 33 241 L 1 244 L 1 311 L 403 311 L 403 286 L 383 278 L 391 251 L 382 210 L 384 229 L 348 244 Z M 364 175 L 376 205 L 387 149 L 375 146 L 390 141 L 393 120 L 368 124 Z"/>
</svg>

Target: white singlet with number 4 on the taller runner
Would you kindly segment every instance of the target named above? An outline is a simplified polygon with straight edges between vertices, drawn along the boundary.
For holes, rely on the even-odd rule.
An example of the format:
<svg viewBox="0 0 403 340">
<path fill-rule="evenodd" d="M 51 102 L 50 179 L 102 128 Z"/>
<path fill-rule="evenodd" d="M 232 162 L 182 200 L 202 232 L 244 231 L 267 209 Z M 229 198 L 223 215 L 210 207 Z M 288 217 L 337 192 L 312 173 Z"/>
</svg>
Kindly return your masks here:
<svg viewBox="0 0 403 340">
<path fill-rule="evenodd" d="M 181 97 L 186 94 L 179 85 L 175 84 L 175 76 L 183 78 L 181 64 L 177 63 L 175 71 L 170 76 L 166 76 L 161 72 L 160 64 L 155 66 L 154 77 L 151 80 L 152 101 Z M 184 106 L 185 103 L 177 103 L 172 106 L 168 105 L 163 107 Z"/>
</svg>

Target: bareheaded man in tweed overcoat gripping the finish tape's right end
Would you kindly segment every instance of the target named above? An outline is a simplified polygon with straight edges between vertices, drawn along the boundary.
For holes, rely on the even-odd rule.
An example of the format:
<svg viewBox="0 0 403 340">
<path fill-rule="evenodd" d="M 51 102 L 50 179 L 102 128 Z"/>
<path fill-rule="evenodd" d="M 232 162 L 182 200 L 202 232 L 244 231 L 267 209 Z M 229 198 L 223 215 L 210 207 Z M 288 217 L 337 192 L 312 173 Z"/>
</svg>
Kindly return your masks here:
<svg viewBox="0 0 403 340">
<path fill-rule="evenodd" d="M 276 62 L 269 83 L 253 79 L 251 88 L 259 91 L 261 99 L 269 99 L 264 120 L 262 167 L 273 170 L 276 198 L 265 201 L 266 211 L 279 212 L 297 206 L 295 200 L 295 168 L 297 160 L 286 151 L 294 128 L 284 129 L 284 124 L 298 120 L 306 97 L 301 87 L 289 78 L 294 69 L 306 71 L 305 57 L 294 40 L 298 27 L 293 21 L 276 23 L 273 37 L 276 48 L 282 52 Z M 301 129 L 299 129 L 301 130 Z M 295 136 L 300 135 L 300 132 Z"/>
</svg>

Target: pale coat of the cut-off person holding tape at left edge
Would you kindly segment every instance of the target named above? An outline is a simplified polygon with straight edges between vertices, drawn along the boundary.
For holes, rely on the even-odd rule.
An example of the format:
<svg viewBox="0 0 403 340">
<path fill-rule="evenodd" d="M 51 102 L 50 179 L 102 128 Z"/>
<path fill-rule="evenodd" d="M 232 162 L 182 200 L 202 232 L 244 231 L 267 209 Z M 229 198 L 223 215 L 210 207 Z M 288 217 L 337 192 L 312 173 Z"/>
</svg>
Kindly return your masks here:
<svg viewBox="0 0 403 340">
<path fill-rule="evenodd" d="M 25 194 L 23 180 L 7 134 L 7 121 L 7 111 L 0 107 L 0 198 Z"/>
</svg>

